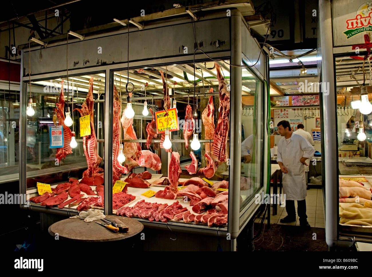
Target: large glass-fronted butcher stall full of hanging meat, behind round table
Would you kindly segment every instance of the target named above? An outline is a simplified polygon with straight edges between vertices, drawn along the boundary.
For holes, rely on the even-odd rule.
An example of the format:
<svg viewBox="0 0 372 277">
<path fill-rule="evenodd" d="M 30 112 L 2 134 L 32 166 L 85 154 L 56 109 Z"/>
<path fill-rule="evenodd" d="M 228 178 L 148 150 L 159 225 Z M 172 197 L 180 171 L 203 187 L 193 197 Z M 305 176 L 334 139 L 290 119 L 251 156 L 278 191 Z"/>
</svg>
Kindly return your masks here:
<svg viewBox="0 0 372 277">
<path fill-rule="evenodd" d="M 23 46 L 20 193 L 44 229 L 96 209 L 142 222 L 144 250 L 236 249 L 267 190 L 268 57 L 230 8 Z"/>
</svg>

